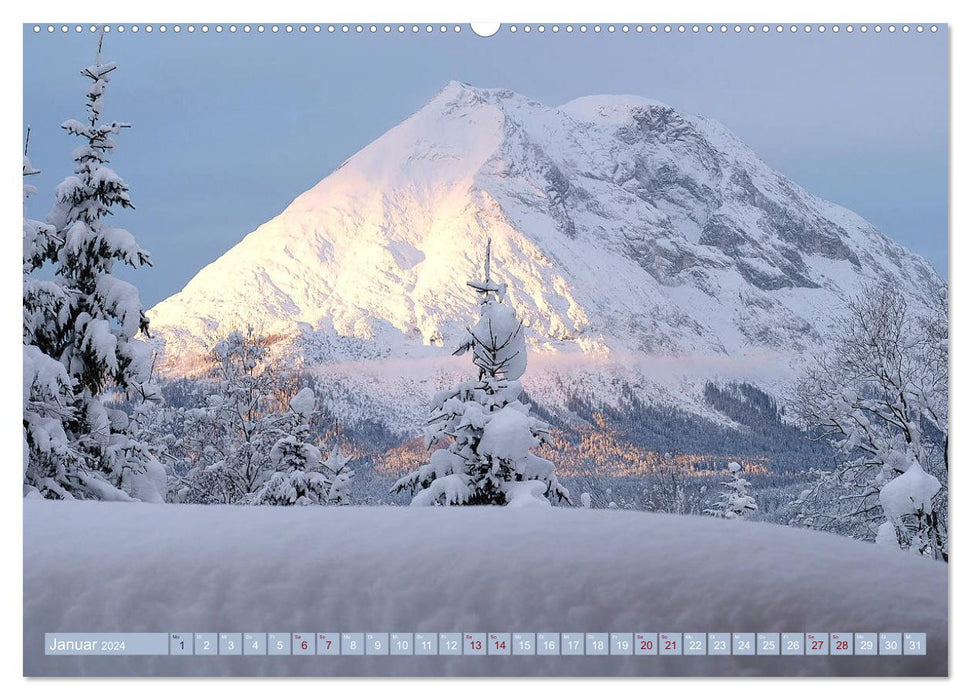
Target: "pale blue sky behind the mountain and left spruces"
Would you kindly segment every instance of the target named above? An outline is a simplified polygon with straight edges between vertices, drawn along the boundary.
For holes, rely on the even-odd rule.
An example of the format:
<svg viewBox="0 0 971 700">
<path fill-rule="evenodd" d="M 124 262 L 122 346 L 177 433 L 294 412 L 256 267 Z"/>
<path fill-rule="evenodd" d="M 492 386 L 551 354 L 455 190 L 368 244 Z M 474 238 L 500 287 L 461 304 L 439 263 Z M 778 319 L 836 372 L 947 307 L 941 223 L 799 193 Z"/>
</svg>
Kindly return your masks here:
<svg viewBox="0 0 971 700">
<path fill-rule="evenodd" d="M 96 39 L 24 29 L 42 218 L 70 172 Z M 546 104 L 636 94 L 714 118 L 770 165 L 947 266 L 947 32 L 796 35 L 110 33 L 105 116 L 128 121 L 117 217 L 153 254 L 146 305 L 278 214 L 450 79 Z"/>
</svg>

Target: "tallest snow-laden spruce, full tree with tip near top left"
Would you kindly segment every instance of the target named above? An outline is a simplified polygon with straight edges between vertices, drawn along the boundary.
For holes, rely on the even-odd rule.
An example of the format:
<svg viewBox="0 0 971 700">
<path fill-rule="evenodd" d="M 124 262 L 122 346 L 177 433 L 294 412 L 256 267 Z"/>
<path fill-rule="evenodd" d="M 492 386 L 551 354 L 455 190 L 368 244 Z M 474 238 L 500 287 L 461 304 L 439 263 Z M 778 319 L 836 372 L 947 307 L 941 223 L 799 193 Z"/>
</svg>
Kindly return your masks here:
<svg viewBox="0 0 971 700">
<path fill-rule="evenodd" d="M 112 208 L 133 208 L 128 185 L 107 166 L 112 137 L 128 126 L 101 121 L 114 70 L 115 64 L 102 62 L 99 42 L 94 64 L 81 71 L 91 83 L 87 119 L 62 124 L 82 140 L 73 154 L 74 174 L 57 187 L 48 216 L 50 244 L 35 239 L 33 245 L 32 267 L 49 263 L 54 284 L 48 289 L 61 295 L 40 312 L 41 322 L 32 323 L 42 330 L 34 345 L 58 360 L 71 379 L 73 411 L 63 426 L 72 459 L 39 462 L 27 485 L 50 498 L 158 501 L 164 469 L 133 437 L 127 413 L 106 405 L 113 398 L 132 403 L 157 398 L 151 352 L 136 337 L 148 332 L 138 290 L 112 275 L 116 262 L 133 268 L 150 264 L 130 233 L 106 222 Z M 37 308 L 27 304 L 25 313 Z"/>
</svg>

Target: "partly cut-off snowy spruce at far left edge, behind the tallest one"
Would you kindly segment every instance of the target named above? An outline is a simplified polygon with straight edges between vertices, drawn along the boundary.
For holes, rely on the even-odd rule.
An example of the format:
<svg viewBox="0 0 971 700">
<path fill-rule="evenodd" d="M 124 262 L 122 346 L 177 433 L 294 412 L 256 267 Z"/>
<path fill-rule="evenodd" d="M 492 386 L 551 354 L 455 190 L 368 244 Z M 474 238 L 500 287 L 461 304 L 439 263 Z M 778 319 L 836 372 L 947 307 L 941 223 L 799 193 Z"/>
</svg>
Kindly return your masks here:
<svg viewBox="0 0 971 700">
<path fill-rule="evenodd" d="M 24 147 L 24 178 L 40 173 Z M 60 362 L 39 347 L 50 347 L 58 319 L 69 305 L 69 292 L 57 281 L 32 273 L 57 250 L 54 227 L 27 216 L 27 200 L 37 189 L 24 182 L 23 234 L 23 469 L 25 494 L 51 491 L 67 497 L 61 476 L 75 472 L 78 456 L 68 442 L 64 423 L 74 416 L 74 382 Z"/>
</svg>

